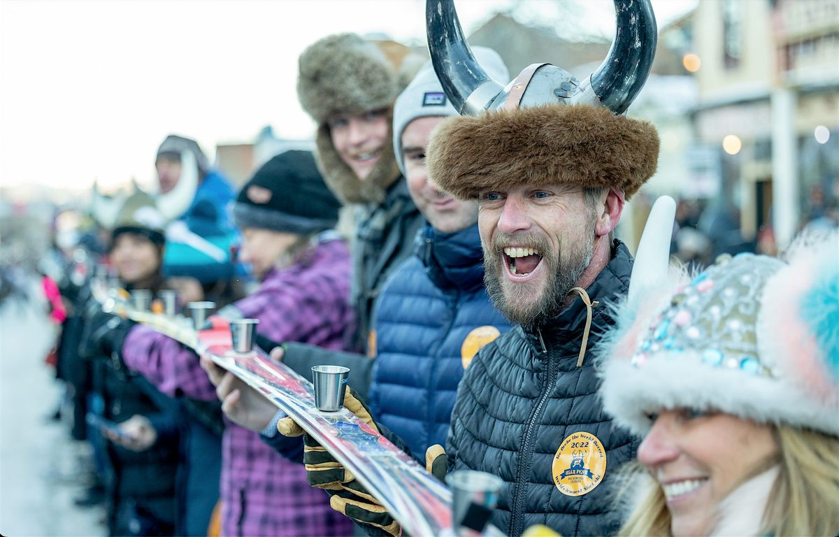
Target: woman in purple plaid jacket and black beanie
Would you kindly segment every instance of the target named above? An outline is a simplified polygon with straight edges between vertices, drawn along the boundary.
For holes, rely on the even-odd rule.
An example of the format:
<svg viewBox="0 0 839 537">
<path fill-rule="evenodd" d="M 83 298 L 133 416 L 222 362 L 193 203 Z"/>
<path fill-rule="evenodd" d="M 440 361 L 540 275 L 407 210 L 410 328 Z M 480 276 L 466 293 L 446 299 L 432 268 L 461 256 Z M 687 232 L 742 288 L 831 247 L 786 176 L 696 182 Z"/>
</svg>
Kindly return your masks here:
<svg viewBox="0 0 839 537">
<path fill-rule="evenodd" d="M 268 161 L 242 187 L 233 206 L 242 230 L 242 261 L 261 281 L 258 290 L 220 315 L 256 318 L 258 333 L 340 349 L 352 321 L 347 305 L 347 247 L 331 229 L 339 203 L 324 185 L 311 154 L 289 151 Z M 165 394 L 216 399 L 198 357 L 177 341 L 133 326 L 122 360 Z M 226 423 L 221 467 L 224 535 L 349 535 L 352 523 L 309 487 L 305 468 L 286 461 L 257 433 Z"/>
</svg>

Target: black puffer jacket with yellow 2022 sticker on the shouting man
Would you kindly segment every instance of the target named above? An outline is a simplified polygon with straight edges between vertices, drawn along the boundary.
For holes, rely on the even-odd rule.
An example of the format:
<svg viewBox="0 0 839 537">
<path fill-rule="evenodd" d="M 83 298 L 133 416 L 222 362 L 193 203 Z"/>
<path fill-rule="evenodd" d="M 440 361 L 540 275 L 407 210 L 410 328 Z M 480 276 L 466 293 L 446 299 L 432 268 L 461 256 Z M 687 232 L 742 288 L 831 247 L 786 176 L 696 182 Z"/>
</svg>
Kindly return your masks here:
<svg viewBox="0 0 839 537">
<path fill-rule="evenodd" d="M 466 369 L 451 415 L 450 471 L 480 470 L 503 478 L 492 524 L 505 533 L 518 536 L 533 524 L 565 536 L 618 531 L 611 477 L 634 458 L 638 441 L 612 428 L 603 414 L 591 349 L 614 324 L 607 304 L 627 293 L 632 263 L 627 248 L 615 241 L 612 261 L 586 289 L 600 304 L 593 310 L 581 367 L 577 359 L 586 306 L 577 298 L 545 326 L 516 327 L 483 347 Z M 568 438 L 581 432 L 587 435 Z M 605 448 L 605 472 L 602 451 L 598 456 L 591 435 Z M 556 460 L 560 446 L 565 458 Z M 584 467 L 572 461 L 575 454 L 588 457 Z M 589 492 L 571 496 L 560 491 L 560 485 L 567 491 L 575 482 Z"/>
</svg>

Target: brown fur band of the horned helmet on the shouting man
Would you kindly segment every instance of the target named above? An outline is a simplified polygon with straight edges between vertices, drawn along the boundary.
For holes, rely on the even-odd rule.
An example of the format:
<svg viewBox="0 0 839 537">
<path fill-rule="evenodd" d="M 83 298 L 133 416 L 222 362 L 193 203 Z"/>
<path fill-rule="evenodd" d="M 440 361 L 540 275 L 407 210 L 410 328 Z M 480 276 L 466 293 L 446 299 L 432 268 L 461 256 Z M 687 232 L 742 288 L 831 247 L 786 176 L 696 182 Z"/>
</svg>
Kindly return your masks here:
<svg viewBox="0 0 839 537">
<path fill-rule="evenodd" d="M 655 173 L 659 134 L 606 107 L 557 104 L 449 117 L 426 156 L 431 179 L 461 200 L 539 183 L 613 187 L 628 198 Z"/>
</svg>

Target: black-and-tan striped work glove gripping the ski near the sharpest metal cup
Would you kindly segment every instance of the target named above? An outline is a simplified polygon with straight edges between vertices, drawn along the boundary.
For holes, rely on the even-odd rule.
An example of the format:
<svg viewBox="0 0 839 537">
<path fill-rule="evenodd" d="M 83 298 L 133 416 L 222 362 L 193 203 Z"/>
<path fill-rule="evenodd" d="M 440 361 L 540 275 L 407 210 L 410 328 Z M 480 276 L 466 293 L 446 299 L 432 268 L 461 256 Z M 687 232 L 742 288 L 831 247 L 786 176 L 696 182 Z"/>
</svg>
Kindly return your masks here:
<svg viewBox="0 0 839 537">
<path fill-rule="evenodd" d="M 344 394 L 344 406 L 373 430 L 381 432 L 367 405 L 357 397 L 352 388 L 347 388 Z M 401 526 L 388 514 L 388 510 L 367 493 L 361 483 L 356 481 L 355 476 L 336 461 L 329 451 L 309 435 L 305 435 L 300 425 L 291 418 L 283 418 L 277 422 L 277 430 L 284 436 L 304 435 L 303 463 L 306 467 L 306 478 L 312 487 L 324 488 L 330 493 L 331 508 L 353 519 L 367 534 L 393 537 L 401 534 Z"/>
</svg>

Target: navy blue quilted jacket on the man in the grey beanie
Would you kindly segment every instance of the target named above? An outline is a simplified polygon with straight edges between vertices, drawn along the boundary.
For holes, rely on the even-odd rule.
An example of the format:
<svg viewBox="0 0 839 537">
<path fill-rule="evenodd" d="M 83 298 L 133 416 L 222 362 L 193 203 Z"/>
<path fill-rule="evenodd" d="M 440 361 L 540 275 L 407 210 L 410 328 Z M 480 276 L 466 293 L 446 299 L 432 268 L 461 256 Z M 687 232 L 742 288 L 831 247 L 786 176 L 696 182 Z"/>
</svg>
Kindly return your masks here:
<svg viewBox="0 0 839 537">
<path fill-rule="evenodd" d="M 439 233 L 426 225 L 417 234 L 416 255 L 379 298 L 369 397 L 376 419 L 420 461 L 429 446 L 446 442 L 463 376 L 461 347 L 481 326 L 509 329 L 483 288 L 477 226 Z"/>
</svg>

